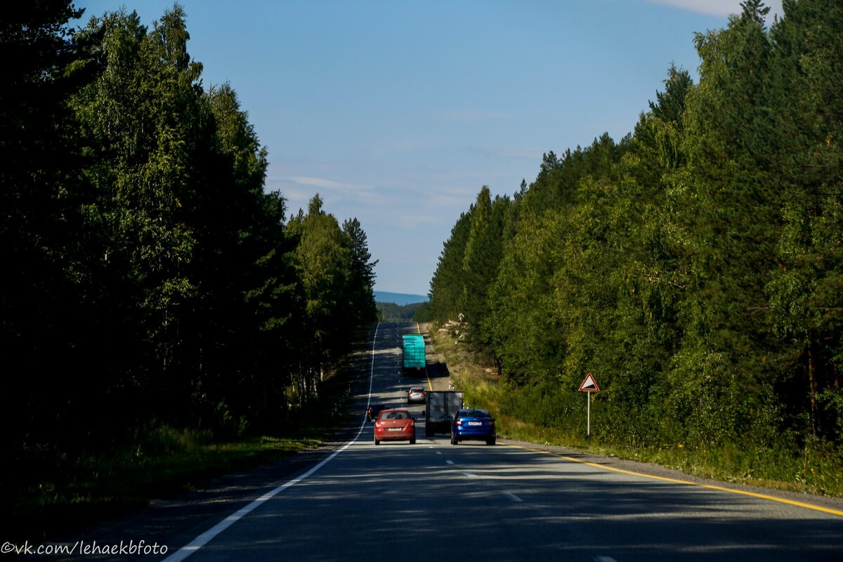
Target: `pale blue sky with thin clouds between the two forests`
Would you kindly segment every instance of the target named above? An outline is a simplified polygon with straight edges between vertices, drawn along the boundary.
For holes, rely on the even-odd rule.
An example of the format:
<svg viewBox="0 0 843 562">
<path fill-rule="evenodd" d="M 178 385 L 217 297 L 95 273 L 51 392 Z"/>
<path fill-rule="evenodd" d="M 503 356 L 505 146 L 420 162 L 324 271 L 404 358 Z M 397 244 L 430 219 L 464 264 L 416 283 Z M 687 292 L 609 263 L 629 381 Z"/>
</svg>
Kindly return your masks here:
<svg viewBox="0 0 843 562">
<path fill-rule="evenodd" d="M 75 0 L 137 11 L 172 0 Z M 781 0 L 766 2 L 781 16 Z M 542 154 L 615 141 L 674 63 L 697 77 L 695 32 L 740 0 L 181 0 L 202 83 L 229 83 L 269 151 L 288 214 L 315 194 L 357 217 L 378 291 L 425 295 L 459 214 L 512 195 Z M 772 23 L 772 19 L 768 24 Z"/>
</svg>

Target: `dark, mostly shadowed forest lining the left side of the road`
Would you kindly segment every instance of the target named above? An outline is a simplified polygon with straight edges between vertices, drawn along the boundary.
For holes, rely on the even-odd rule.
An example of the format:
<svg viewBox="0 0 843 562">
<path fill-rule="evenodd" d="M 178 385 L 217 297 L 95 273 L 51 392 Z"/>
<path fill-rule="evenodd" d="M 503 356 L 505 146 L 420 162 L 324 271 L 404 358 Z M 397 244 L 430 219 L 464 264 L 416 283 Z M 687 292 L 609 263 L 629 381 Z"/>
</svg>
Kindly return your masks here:
<svg viewBox="0 0 843 562">
<path fill-rule="evenodd" d="M 271 435 L 376 319 L 362 225 L 267 189 L 266 148 L 230 84 L 202 85 L 179 5 L 151 28 L 82 15 L 0 19 L 7 475 L 157 426 Z"/>
</svg>

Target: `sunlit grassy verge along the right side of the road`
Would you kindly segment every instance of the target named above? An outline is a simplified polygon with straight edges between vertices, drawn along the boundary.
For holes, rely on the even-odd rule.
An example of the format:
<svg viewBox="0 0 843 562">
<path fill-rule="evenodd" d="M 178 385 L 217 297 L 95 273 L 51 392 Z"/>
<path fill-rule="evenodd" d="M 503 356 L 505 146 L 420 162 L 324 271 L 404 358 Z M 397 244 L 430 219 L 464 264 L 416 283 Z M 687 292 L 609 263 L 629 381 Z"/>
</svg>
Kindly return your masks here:
<svg viewBox="0 0 843 562">
<path fill-rule="evenodd" d="M 652 447 L 628 447 L 598 433 L 586 436 L 583 427 L 548 426 L 527 421 L 526 412 L 513 407 L 510 392 L 497 373 L 482 365 L 447 331 L 431 329 L 433 345 L 442 354 L 454 381 L 464 392 L 466 404 L 490 409 L 496 417 L 497 434 L 504 439 L 539 445 L 567 447 L 604 457 L 623 458 L 675 468 L 699 478 L 748 484 L 772 490 L 843 497 L 843 458 L 840 450 L 815 444 L 759 450 L 726 444 L 718 448 L 693 449 L 682 443 L 658 443 Z M 517 401 L 516 401 L 517 403 Z M 583 410 L 584 407 L 583 399 Z M 592 412 L 594 414 L 594 411 Z M 585 412 L 583 411 L 583 416 Z"/>
</svg>

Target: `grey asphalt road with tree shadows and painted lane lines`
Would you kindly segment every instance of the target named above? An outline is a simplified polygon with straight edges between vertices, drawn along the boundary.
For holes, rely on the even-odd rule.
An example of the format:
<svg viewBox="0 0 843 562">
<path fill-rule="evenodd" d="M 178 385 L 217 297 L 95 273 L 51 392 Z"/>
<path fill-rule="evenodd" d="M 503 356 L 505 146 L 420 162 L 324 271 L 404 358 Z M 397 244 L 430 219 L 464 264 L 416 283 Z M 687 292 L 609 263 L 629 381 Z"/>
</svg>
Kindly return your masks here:
<svg viewBox="0 0 843 562">
<path fill-rule="evenodd" d="M 167 559 L 843 560 L 839 500 L 647 474 L 500 438 L 452 446 L 448 436 L 424 437 L 423 418 L 416 445 L 375 447 L 362 415 L 370 399 L 405 405 L 411 385 L 445 383 L 435 372 L 401 375 L 400 335 L 415 331 L 379 326 L 347 442 L 216 514 L 161 531 Z M 409 408 L 422 415 L 421 405 Z"/>
</svg>

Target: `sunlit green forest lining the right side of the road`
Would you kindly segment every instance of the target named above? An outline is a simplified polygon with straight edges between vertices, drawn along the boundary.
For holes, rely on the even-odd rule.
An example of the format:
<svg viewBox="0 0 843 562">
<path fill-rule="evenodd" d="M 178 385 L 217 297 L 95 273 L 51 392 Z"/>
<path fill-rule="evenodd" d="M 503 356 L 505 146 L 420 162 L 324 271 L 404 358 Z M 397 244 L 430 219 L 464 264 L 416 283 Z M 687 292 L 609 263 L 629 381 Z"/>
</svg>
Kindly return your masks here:
<svg viewBox="0 0 843 562">
<path fill-rule="evenodd" d="M 581 431 L 593 373 L 598 442 L 841 478 L 843 4 L 782 6 L 742 3 L 630 134 L 545 153 L 454 224 L 432 318 L 464 314 L 502 413 Z"/>
</svg>

